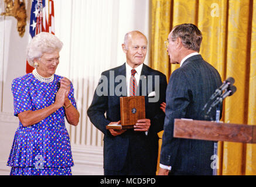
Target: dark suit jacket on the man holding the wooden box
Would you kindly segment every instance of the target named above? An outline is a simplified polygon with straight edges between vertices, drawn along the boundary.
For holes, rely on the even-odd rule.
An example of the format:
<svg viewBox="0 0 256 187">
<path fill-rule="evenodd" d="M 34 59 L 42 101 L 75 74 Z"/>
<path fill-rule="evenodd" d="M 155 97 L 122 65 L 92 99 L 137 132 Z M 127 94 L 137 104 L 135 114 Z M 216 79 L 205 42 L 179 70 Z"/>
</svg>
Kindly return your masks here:
<svg viewBox="0 0 256 187">
<path fill-rule="evenodd" d="M 94 93 L 93 102 L 87 110 L 87 115 L 90 117 L 91 122 L 97 129 L 104 133 L 104 169 L 112 171 L 120 171 L 125 164 L 125 159 L 129 146 L 133 150 L 136 150 L 136 155 L 132 155 L 136 164 L 134 167 L 145 168 L 145 171 L 153 169 L 156 171 L 157 157 L 158 157 L 158 135 L 157 133 L 163 130 L 163 122 L 165 119 L 165 113 L 160 109 L 160 104 L 165 102 L 166 97 L 166 77 L 159 71 L 149 68 L 147 65 L 143 65 L 141 71 L 141 77 L 144 77 L 148 81 L 148 75 L 152 75 L 153 84 L 152 91 L 155 91 L 155 77 L 159 76 L 159 101 L 158 102 L 148 102 L 148 92 L 147 85 L 142 88 L 141 80 L 139 81 L 139 90 L 142 92 L 146 89 L 145 96 L 145 110 L 146 118 L 151 120 L 151 127 L 148 132 L 148 136 L 145 132 L 135 132 L 134 130 L 127 130 L 120 136 L 112 136 L 109 130 L 105 129 L 105 126 L 110 122 L 118 122 L 121 120 L 120 117 L 120 96 L 114 93 L 114 96 L 110 96 L 110 72 L 114 72 L 114 78 L 118 75 L 123 75 L 126 77 L 125 64 L 120 67 L 113 68 L 108 71 L 104 71 L 101 76 L 107 77 L 108 79 L 108 95 L 98 96 Z M 144 76 L 145 75 L 145 76 Z M 99 85 L 101 82 L 99 83 Z M 114 88 L 117 88 L 120 82 L 114 83 Z M 126 79 L 125 79 L 126 85 Z M 122 89 L 122 88 L 121 88 Z M 140 93 L 140 95 L 141 95 Z M 127 96 L 127 86 L 125 86 L 125 94 L 121 96 Z M 106 117 L 104 113 L 106 112 Z"/>
</svg>

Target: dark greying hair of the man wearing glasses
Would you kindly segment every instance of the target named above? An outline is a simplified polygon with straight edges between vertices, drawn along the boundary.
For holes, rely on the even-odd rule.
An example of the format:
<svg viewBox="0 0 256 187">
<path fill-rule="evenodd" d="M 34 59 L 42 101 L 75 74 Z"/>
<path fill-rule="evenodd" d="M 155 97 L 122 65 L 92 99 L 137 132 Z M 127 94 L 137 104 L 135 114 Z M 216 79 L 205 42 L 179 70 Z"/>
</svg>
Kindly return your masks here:
<svg viewBox="0 0 256 187">
<path fill-rule="evenodd" d="M 203 40 L 202 32 L 196 25 L 185 23 L 177 25 L 172 29 L 172 40 L 178 37 L 182 40 L 182 44 L 186 49 L 199 52 Z"/>
</svg>

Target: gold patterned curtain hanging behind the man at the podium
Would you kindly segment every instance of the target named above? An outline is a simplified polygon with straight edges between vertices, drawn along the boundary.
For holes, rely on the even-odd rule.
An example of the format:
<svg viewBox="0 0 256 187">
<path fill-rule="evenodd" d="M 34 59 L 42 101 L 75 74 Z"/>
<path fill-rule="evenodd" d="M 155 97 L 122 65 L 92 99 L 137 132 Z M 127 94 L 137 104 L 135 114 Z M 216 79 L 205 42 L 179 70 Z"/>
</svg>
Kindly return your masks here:
<svg viewBox="0 0 256 187">
<path fill-rule="evenodd" d="M 197 25 L 203 33 L 204 60 L 220 72 L 223 81 L 235 79 L 237 92 L 224 101 L 221 121 L 256 125 L 256 0 L 151 2 L 151 67 L 169 78 L 179 65 L 169 64 L 164 41 L 175 25 Z M 256 175 L 255 155 L 256 144 L 219 142 L 218 174 Z"/>
</svg>

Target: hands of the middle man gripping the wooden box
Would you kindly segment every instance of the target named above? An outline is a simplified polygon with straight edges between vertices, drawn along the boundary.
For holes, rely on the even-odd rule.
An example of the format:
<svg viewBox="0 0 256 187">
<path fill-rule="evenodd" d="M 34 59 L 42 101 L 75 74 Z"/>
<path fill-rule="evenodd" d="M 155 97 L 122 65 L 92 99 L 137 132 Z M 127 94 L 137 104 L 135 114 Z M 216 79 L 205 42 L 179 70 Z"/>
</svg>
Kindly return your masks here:
<svg viewBox="0 0 256 187">
<path fill-rule="evenodd" d="M 110 124 L 120 124 L 121 121 L 118 122 L 110 122 Z M 137 123 L 134 126 L 134 131 L 148 131 L 149 127 L 151 126 L 151 121 L 150 119 L 139 119 Z M 118 136 L 124 133 L 126 130 L 115 130 L 115 129 L 110 129 L 110 133 L 112 136 Z"/>
</svg>

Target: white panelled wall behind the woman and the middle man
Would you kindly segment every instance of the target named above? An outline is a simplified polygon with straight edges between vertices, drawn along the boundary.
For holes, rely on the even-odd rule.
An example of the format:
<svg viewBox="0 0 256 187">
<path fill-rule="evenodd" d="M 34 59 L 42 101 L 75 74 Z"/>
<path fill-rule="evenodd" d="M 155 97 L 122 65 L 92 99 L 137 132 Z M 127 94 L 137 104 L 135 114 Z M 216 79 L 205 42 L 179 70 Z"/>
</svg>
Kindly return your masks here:
<svg viewBox="0 0 256 187">
<path fill-rule="evenodd" d="M 25 2 L 29 17 L 31 2 Z M 0 12 L 3 8 L 0 1 Z M 56 73 L 73 82 L 80 112 L 77 127 L 67 124 L 75 163 L 72 171 L 74 175 L 102 175 L 103 134 L 90 123 L 86 111 L 101 72 L 125 62 L 121 48 L 125 33 L 140 30 L 149 39 L 149 0 L 54 0 L 54 11 L 55 34 L 64 43 Z M 0 16 L 0 175 L 9 174 L 5 165 L 18 127 L 11 81 L 25 74 L 28 25 L 29 19 L 21 38 L 16 20 Z"/>
</svg>

